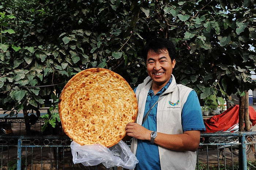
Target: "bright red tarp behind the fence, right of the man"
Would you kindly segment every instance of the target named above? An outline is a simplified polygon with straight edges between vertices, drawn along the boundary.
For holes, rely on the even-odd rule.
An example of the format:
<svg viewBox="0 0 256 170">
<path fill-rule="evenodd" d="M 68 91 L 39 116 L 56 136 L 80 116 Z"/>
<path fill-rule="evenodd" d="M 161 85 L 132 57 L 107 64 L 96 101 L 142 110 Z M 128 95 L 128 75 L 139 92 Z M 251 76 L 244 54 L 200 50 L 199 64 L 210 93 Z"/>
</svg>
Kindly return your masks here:
<svg viewBox="0 0 256 170">
<path fill-rule="evenodd" d="M 207 133 L 217 132 L 224 129 L 228 129 L 239 121 L 239 105 L 230 107 L 222 114 L 212 116 L 204 120 Z M 252 106 L 249 106 L 249 119 L 252 122 L 252 126 L 256 124 L 256 112 Z"/>
</svg>

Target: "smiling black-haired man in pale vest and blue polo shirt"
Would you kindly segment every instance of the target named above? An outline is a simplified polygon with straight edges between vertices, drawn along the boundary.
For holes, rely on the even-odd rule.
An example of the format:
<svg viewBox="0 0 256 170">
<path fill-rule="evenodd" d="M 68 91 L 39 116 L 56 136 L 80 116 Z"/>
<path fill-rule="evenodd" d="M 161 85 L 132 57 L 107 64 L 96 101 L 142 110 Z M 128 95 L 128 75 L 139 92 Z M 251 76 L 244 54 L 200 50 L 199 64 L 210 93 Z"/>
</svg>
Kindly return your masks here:
<svg viewBox="0 0 256 170">
<path fill-rule="evenodd" d="M 135 88 L 139 111 L 127 124 L 136 170 L 195 170 L 200 131 L 205 131 L 196 92 L 176 84 L 172 70 L 176 51 L 167 39 L 154 39 L 142 49 L 148 77 Z"/>
</svg>

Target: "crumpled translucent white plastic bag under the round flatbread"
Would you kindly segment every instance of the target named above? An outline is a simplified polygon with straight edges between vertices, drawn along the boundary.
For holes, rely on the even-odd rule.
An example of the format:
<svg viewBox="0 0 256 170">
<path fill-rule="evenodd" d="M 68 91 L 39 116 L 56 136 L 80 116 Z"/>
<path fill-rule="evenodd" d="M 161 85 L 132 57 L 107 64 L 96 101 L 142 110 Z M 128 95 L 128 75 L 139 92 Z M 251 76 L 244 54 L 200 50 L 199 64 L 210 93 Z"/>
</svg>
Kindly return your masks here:
<svg viewBox="0 0 256 170">
<path fill-rule="evenodd" d="M 136 156 L 122 140 L 110 148 L 101 144 L 81 146 L 74 141 L 71 142 L 70 147 L 74 164 L 82 163 L 84 166 L 94 166 L 102 163 L 106 168 L 121 166 L 126 169 L 134 169 L 138 163 Z"/>
</svg>

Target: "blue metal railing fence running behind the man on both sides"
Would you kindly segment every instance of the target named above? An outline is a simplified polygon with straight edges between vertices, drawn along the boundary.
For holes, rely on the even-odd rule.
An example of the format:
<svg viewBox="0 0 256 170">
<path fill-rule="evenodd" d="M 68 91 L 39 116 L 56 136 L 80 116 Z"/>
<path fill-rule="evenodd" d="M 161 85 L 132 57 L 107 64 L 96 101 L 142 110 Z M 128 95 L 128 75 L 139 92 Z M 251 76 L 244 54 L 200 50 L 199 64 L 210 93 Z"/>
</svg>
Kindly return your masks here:
<svg viewBox="0 0 256 170">
<path fill-rule="evenodd" d="M 20 127 L 15 127 L 15 126 Z M 40 124 L 41 126 L 41 124 Z M 70 149 L 71 140 L 65 135 L 22 135 L 23 123 L 14 123 L 14 135 L 0 136 L 0 170 L 106 170 L 103 165 L 83 166 L 72 162 Z M 22 132 L 15 132 L 20 129 Z M 34 128 L 36 129 L 36 128 Z M 21 134 L 21 135 L 15 135 Z M 247 161 L 256 161 L 255 137 L 256 132 L 240 133 L 202 133 L 202 142 L 197 150 L 196 169 L 222 169 L 229 166 L 237 169 L 238 146 L 242 162 L 242 170 L 247 170 Z M 238 142 L 240 139 L 240 143 Z M 129 143 L 128 143 L 129 144 Z M 256 166 L 256 165 L 255 165 Z M 122 170 L 122 167 L 113 167 L 107 170 Z"/>
</svg>

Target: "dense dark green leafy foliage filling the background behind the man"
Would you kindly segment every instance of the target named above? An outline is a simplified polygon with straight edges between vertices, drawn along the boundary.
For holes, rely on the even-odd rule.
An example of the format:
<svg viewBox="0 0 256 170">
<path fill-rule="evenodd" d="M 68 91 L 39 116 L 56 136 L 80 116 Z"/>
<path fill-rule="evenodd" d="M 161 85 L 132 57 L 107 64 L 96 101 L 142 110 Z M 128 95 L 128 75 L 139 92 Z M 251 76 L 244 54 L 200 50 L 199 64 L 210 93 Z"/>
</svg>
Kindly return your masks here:
<svg viewBox="0 0 256 170">
<path fill-rule="evenodd" d="M 137 86 L 147 76 L 140 48 L 153 37 L 174 42 L 174 75 L 200 99 L 228 101 L 255 88 L 253 0 L 5 0 L 0 12 L 0 107 L 10 116 L 39 115 L 43 100 L 87 68 Z"/>
</svg>

